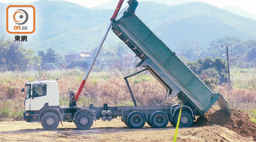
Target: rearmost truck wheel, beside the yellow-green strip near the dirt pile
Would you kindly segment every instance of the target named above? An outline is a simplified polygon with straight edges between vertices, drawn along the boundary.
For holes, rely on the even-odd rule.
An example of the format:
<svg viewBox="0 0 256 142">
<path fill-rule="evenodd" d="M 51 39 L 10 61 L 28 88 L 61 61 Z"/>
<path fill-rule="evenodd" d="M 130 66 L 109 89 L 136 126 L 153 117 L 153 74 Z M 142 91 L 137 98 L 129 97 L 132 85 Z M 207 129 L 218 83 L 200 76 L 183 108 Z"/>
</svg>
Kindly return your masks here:
<svg viewBox="0 0 256 142">
<path fill-rule="evenodd" d="M 179 113 L 176 114 L 175 116 L 175 124 L 177 124 L 178 118 L 179 118 Z M 191 113 L 187 111 L 181 111 L 179 127 L 191 127 L 192 124 L 193 124 L 193 119 L 192 119 Z"/>
</svg>

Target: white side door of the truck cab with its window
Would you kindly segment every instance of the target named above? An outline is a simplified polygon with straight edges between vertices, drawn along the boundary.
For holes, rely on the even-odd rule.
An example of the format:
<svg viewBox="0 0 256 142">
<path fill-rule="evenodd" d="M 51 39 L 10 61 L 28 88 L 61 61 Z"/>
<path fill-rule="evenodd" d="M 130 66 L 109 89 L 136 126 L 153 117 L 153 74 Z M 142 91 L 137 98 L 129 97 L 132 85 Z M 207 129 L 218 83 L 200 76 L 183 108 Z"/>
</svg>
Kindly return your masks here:
<svg viewBox="0 0 256 142">
<path fill-rule="evenodd" d="M 30 110 L 40 110 L 45 103 L 48 103 L 47 83 L 33 84 Z"/>
</svg>

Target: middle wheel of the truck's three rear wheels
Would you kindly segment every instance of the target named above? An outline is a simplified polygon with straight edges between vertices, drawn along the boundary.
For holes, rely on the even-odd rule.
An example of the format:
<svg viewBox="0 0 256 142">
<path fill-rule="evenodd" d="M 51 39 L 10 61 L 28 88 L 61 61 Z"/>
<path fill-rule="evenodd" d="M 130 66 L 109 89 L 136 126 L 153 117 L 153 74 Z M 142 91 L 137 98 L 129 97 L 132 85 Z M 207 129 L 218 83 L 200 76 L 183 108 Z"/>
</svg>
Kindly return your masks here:
<svg viewBox="0 0 256 142">
<path fill-rule="evenodd" d="M 150 123 L 153 128 L 164 128 L 168 122 L 168 116 L 163 111 L 155 111 L 150 115 Z"/>
</svg>

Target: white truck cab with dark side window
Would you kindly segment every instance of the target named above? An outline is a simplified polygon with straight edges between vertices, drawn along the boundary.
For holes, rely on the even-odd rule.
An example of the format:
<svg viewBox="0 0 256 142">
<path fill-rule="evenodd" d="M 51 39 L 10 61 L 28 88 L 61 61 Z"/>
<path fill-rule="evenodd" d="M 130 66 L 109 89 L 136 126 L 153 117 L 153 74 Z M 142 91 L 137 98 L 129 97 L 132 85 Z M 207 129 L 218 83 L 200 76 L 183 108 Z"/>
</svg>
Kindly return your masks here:
<svg viewBox="0 0 256 142">
<path fill-rule="evenodd" d="M 39 80 L 26 82 L 25 111 L 39 111 L 44 106 L 59 106 L 56 81 Z"/>
</svg>

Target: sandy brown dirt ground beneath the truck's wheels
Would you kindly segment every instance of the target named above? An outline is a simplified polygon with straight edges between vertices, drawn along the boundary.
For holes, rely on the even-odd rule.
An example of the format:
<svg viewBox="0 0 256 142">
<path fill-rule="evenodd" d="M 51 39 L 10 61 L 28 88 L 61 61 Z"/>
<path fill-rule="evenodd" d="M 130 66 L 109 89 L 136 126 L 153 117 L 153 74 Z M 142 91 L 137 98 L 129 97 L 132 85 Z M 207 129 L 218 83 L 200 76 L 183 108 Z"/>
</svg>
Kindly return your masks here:
<svg viewBox="0 0 256 142">
<path fill-rule="evenodd" d="M 0 141 L 172 141 L 175 128 L 128 128 L 121 119 L 97 120 L 90 130 L 77 130 L 74 123 L 63 123 L 55 131 L 44 131 L 40 123 L 0 122 Z M 253 141 L 226 127 L 210 125 L 180 128 L 177 141 Z"/>
</svg>

